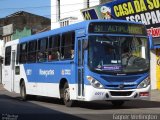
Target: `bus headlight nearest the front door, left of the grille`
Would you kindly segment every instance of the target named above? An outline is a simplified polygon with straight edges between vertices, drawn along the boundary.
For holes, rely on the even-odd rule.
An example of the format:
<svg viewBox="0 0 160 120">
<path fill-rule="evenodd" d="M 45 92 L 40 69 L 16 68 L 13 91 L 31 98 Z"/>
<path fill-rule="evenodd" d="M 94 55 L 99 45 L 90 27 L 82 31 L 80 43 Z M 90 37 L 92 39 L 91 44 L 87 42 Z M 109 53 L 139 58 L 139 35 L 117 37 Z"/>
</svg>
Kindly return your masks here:
<svg viewBox="0 0 160 120">
<path fill-rule="evenodd" d="M 103 85 L 96 80 L 95 78 L 91 77 L 91 76 L 87 76 L 87 80 L 90 82 L 90 84 L 94 87 L 94 88 L 99 88 L 102 89 L 104 88 Z"/>
</svg>

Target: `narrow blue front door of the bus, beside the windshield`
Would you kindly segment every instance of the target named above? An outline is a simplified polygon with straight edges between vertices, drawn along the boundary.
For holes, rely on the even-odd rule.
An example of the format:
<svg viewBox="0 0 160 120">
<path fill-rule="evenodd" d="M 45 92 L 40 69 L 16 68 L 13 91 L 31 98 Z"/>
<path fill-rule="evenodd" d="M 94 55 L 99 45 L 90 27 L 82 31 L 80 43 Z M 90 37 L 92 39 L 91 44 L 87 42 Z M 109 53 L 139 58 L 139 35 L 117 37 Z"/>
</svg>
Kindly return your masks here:
<svg viewBox="0 0 160 120">
<path fill-rule="evenodd" d="M 78 39 L 78 97 L 84 97 L 84 37 Z"/>
</svg>

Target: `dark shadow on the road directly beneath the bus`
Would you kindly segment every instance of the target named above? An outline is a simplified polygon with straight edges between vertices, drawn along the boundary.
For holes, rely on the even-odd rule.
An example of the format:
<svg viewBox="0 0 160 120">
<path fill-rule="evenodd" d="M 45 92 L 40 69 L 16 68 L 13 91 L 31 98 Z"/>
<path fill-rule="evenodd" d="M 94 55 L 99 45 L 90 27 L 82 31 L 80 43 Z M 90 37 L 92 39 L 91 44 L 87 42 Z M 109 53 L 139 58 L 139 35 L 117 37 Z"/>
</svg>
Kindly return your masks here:
<svg viewBox="0 0 160 120">
<path fill-rule="evenodd" d="M 20 99 L 20 98 L 17 98 Z M 50 98 L 50 97 L 33 97 L 30 100 L 63 105 L 62 100 Z M 134 100 L 126 101 L 121 107 L 115 107 L 109 101 L 96 101 L 96 102 L 76 102 L 74 107 L 93 109 L 93 110 L 107 110 L 107 109 L 135 109 L 135 108 L 160 108 L 160 101 L 146 101 L 146 100 Z"/>
</svg>

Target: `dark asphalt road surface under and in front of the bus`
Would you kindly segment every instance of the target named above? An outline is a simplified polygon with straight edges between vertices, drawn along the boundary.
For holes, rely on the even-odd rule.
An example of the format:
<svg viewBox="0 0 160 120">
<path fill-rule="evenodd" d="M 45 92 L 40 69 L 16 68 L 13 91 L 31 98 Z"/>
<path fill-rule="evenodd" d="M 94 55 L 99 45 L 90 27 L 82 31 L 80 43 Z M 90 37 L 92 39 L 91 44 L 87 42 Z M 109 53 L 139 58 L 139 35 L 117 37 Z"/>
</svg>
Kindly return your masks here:
<svg viewBox="0 0 160 120">
<path fill-rule="evenodd" d="M 105 101 L 79 102 L 75 107 L 67 108 L 53 98 L 37 97 L 24 102 L 18 94 L 10 93 L 0 86 L 0 119 L 3 120 L 120 120 L 121 117 L 121 120 L 128 120 L 134 116 L 142 118 L 144 114 L 151 114 L 152 118 L 160 120 L 160 91 L 152 91 L 150 101 L 128 101 L 119 108 Z"/>
</svg>

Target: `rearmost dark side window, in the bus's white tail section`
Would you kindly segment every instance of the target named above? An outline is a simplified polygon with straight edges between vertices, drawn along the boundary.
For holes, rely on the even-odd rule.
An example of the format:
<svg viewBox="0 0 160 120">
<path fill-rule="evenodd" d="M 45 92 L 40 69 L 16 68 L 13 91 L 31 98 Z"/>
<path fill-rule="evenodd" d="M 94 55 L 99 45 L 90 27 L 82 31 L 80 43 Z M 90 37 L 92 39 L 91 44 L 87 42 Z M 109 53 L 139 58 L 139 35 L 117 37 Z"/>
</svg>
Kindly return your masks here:
<svg viewBox="0 0 160 120">
<path fill-rule="evenodd" d="M 5 66 L 10 65 L 10 63 L 11 63 L 11 46 L 8 46 L 5 49 Z"/>
</svg>

